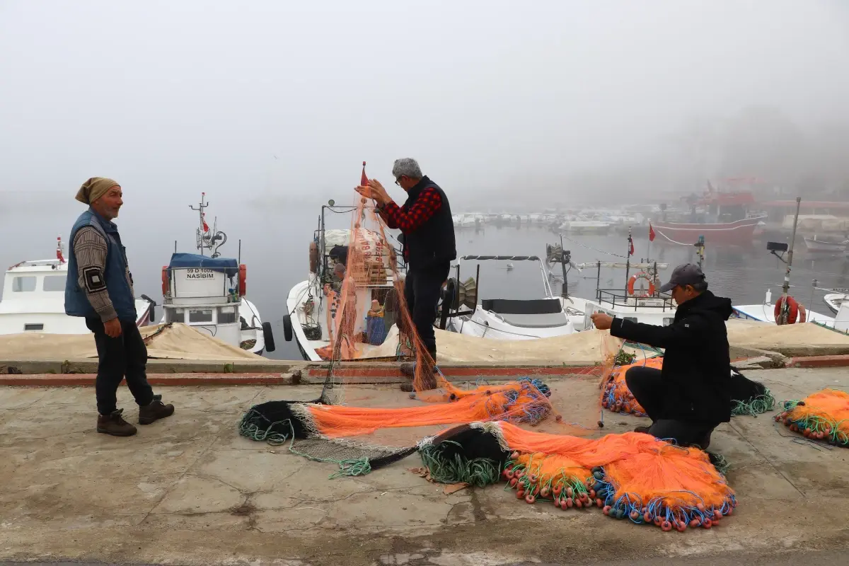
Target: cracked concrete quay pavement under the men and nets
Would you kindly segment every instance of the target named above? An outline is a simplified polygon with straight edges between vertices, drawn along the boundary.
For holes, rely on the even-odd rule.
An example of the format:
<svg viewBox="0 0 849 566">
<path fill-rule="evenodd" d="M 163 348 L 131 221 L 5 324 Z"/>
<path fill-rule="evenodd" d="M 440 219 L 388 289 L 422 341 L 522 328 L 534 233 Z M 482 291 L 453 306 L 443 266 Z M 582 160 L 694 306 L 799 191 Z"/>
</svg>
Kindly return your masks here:
<svg viewBox="0 0 849 566">
<path fill-rule="evenodd" d="M 849 370 L 751 371 L 779 400 L 849 387 Z M 599 436 L 636 417 L 599 419 L 597 379 L 546 378 L 567 423 Z M 0 561 L 138 564 L 628 563 L 686 558 L 773 563 L 786 552 L 830 563 L 849 541 L 849 451 L 813 444 L 762 417 L 734 417 L 711 450 L 728 457 L 739 507 L 713 530 L 638 527 L 597 511 L 517 502 L 500 486 L 445 495 L 408 472 L 417 456 L 359 478 L 239 437 L 250 406 L 308 400 L 316 385 L 159 388 L 177 413 L 132 438 L 94 431 L 92 388 L 0 388 Z M 414 405 L 390 387 L 346 386 L 357 406 Z M 120 406 L 129 420 L 127 390 Z M 382 432 L 409 445 L 439 427 Z M 756 558 L 746 558 L 754 556 Z M 817 558 L 818 557 L 818 558 Z M 760 562 L 758 562 L 760 560 Z M 782 562 L 789 563 L 789 562 Z"/>
</svg>

